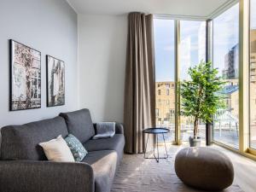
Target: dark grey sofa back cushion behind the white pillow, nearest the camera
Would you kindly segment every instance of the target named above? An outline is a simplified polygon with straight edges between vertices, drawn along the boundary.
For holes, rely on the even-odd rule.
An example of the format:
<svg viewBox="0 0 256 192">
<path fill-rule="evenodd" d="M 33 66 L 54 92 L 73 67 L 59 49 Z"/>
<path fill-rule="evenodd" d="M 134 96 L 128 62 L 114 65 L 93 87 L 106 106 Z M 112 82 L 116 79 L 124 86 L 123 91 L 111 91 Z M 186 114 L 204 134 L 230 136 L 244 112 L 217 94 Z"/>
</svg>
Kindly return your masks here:
<svg viewBox="0 0 256 192">
<path fill-rule="evenodd" d="M 47 142 L 59 135 L 68 135 L 67 125 L 61 117 L 5 126 L 1 133 L 2 160 L 47 160 L 44 149 L 38 143 Z"/>
</svg>

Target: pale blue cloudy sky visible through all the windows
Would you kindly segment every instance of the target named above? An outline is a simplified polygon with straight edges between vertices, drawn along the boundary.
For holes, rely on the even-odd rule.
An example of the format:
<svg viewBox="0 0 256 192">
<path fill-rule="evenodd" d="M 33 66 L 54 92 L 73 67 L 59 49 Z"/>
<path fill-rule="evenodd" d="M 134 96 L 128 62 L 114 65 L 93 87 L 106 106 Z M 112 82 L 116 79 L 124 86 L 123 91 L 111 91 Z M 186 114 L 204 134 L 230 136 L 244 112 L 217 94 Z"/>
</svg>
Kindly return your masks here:
<svg viewBox="0 0 256 192">
<path fill-rule="evenodd" d="M 256 0 L 251 1 L 256 9 Z M 251 28 L 256 29 L 256 12 L 251 11 Z M 224 55 L 238 44 L 239 6 L 234 5 L 213 20 L 213 66 L 219 75 L 224 68 Z M 189 66 L 205 59 L 205 22 L 181 21 L 180 78 L 187 79 Z M 174 20 L 154 19 L 155 80 L 174 80 Z"/>
</svg>

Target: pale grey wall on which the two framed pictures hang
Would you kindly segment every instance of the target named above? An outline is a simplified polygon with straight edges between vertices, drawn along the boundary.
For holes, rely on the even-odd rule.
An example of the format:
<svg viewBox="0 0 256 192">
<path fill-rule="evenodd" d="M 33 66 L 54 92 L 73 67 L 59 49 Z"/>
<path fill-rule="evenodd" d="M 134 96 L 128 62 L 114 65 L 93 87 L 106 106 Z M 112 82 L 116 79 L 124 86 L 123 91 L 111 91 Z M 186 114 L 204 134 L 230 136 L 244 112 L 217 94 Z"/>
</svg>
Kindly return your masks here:
<svg viewBox="0 0 256 192">
<path fill-rule="evenodd" d="M 52 118 L 79 108 L 77 14 L 65 0 L 1 0 L 0 127 Z M 41 51 L 42 107 L 9 112 L 9 39 Z M 46 108 L 45 55 L 66 62 L 66 105 Z"/>
</svg>

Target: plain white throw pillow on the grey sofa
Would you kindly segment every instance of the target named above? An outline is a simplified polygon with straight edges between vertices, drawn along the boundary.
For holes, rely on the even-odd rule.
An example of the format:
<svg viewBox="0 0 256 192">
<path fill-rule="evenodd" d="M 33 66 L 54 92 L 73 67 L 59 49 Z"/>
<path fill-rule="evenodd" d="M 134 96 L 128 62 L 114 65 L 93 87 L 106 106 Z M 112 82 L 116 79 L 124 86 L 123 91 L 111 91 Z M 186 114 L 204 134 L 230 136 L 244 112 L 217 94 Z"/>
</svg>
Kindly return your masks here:
<svg viewBox="0 0 256 192">
<path fill-rule="evenodd" d="M 48 160 L 55 162 L 74 162 L 73 154 L 65 140 L 60 136 L 49 142 L 39 143 L 44 148 L 44 154 Z"/>
</svg>

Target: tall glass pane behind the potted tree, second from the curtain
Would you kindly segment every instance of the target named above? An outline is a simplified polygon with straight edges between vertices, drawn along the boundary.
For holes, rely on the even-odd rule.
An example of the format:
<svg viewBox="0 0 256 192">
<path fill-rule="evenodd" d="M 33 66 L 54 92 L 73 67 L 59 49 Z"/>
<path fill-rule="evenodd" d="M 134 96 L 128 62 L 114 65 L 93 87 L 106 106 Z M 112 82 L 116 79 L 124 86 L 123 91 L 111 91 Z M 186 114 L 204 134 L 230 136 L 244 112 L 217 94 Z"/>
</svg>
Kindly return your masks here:
<svg viewBox="0 0 256 192">
<path fill-rule="evenodd" d="M 189 67 L 206 60 L 206 22 L 205 21 L 180 21 L 181 63 L 180 80 L 189 80 Z M 181 116 L 181 140 L 189 141 L 193 137 L 194 119 Z M 206 124 L 199 122 L 199 137 L 205 139 Z"/>
</svg>

